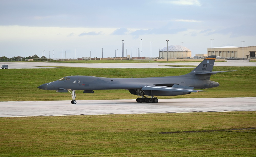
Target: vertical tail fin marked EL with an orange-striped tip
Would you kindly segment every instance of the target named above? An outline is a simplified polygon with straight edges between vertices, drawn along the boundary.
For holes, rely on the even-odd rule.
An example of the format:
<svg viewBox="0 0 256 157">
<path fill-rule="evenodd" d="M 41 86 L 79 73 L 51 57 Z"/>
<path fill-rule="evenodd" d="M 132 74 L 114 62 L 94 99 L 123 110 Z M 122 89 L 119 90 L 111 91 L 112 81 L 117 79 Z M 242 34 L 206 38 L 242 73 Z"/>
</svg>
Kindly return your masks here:
<svg viewBox="0 0 256 157">
<path fill-rule="evenodd" d="M 211 72 L 213 69 L 213 65 L 215 62 L 216 56 L 208 56 L 206 57 L 193 71 L 189 74 L 196 75 L 202 72 Z"/>
</svg>

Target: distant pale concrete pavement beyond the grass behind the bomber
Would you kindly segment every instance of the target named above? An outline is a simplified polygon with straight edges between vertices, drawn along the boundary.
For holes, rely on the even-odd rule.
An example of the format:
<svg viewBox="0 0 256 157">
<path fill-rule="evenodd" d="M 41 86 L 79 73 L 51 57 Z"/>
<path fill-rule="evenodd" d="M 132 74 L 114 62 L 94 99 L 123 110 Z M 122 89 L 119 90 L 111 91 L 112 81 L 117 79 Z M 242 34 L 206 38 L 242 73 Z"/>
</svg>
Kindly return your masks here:
<svg viewBox="0 0 256 157">
<path fill-rule="evenodd" d="M 48 63 L 48 62 L 0 62 L 0 65 L 7 64 L 9 69 L 37 69 L 50 67 L 37 66 L 66 66 L 83 68 L 184 68 L 168 67 L 165 65 L 199 65 L 200 63 Z M 216 62 L 214 66 L 256 66 L 256 62 L 249 60 Z M 186 67 L 187 68 L 187 67 Z"/>
</svg>

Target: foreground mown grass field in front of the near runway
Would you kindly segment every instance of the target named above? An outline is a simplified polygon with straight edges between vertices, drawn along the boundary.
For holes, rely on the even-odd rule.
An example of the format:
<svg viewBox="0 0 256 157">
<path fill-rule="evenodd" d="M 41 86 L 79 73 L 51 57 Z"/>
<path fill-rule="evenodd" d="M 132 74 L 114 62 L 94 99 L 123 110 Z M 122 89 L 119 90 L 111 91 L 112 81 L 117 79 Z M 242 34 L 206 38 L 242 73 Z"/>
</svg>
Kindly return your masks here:
<svg viewBox="0 0 256 157">
<path fill-rule="evenodd" d="M 255 112 L 0 118 L 0 156 L 255 156 Z"/>
</svg>

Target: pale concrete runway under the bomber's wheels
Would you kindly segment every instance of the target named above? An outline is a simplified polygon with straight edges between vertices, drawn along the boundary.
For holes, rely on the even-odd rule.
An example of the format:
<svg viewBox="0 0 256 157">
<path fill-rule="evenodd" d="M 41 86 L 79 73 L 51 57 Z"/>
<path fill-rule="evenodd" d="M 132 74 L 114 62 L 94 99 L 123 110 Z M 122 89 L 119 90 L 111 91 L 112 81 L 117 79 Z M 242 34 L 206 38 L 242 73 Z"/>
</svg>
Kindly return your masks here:
<svg viewBox="0 0 256 157">
<path fill-rule="evenodd" d="M 0 117 L 100 114 L 256 111 L 256 97 L 159 99 L 157 104 L 134 99 L 0 102 Z"/>
</svg>

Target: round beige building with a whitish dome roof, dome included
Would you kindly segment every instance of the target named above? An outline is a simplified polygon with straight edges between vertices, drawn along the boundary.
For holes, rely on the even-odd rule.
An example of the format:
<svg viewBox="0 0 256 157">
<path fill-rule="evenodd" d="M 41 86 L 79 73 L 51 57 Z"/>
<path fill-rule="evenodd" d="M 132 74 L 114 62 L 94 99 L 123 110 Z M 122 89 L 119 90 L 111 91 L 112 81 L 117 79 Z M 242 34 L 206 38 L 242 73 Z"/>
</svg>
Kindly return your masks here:
<svg viewBox="0 0 256 157">
<path fill-rule="evenodd" d="M 181 45 L 171 45 L 168 46 L 168 54 L 167 54 L 167 47 L 164 47 L 159 51 L 159 57 L 163 58 L 191 58 L 191 50 L 187 47 L 182 47 Z"/>
</svg>

